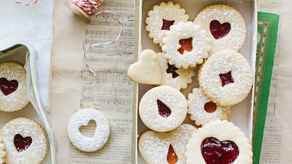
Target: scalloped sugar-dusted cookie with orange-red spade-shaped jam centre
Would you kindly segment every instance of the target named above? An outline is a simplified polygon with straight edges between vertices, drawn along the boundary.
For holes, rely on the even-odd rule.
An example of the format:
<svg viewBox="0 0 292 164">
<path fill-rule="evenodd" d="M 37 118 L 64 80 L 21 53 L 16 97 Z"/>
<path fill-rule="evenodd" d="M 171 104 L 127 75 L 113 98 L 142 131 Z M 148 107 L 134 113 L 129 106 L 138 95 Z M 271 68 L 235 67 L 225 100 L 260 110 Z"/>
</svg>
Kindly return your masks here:
<svg viewBox="0 0 292 164">
<path fill-rule="evenodd" d="M 206 31 L 192 22 L 179 22 L 165 33 L 162 46 L 165 58 L 177 68 L 195 67 L 208 57 L 210 50 Z"/>
</svg>

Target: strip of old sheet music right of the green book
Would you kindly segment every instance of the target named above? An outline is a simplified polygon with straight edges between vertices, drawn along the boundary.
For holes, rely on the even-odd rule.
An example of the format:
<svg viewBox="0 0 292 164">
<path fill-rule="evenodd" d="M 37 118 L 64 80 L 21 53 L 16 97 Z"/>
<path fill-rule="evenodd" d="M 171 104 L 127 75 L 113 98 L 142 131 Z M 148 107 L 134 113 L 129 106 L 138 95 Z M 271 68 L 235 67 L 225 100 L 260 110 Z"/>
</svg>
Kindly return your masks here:
<svg viewBox="0 0 292 164">
<path fill-rule="evenodd" d="M 289 0 L 260 0 L 258 10 L 280 15 L 279 32 L 271 79 L 270 96 L 264 130 L 260 163 L 292 163 L 291 80 L 292 58 L 290 27 L 292 2 Z"/>
</svg>

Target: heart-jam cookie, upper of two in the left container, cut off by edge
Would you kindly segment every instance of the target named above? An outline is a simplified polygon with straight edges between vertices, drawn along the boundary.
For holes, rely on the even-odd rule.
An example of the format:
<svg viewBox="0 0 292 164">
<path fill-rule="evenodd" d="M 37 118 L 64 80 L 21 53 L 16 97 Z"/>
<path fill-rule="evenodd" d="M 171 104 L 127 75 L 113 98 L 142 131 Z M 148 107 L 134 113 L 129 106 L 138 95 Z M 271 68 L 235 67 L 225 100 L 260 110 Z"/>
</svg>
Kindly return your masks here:
<svg viewBox="0 0 292 164">
<path fill-rule="evenodd" d="M 25 68 L 16 62 L 0 63 L 0 111 L 14 112 L 28 103 Z"/>
</svg>

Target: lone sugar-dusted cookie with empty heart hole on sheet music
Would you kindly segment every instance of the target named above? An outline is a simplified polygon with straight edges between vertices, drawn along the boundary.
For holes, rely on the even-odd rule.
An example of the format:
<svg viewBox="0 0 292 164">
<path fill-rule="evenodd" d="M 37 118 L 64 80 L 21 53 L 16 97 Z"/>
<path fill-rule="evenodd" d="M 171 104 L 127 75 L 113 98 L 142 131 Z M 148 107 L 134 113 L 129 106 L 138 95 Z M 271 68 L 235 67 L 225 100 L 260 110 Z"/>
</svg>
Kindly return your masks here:
<svg viewBox="0 0 292 164">
<path fill-rule="evenodd" d="M 93 137 L 88 137 L 80 132 L 81 126 L 87 126 L 89 121 L 96 122 Z M 94 152 L 101 149 L 110 135 L 110 124 L 106 117 L 97 109 L 86 108 L 75 112 L 67 127 L 68 137 L 71 143 L 79 150 Z"/>
</svg>

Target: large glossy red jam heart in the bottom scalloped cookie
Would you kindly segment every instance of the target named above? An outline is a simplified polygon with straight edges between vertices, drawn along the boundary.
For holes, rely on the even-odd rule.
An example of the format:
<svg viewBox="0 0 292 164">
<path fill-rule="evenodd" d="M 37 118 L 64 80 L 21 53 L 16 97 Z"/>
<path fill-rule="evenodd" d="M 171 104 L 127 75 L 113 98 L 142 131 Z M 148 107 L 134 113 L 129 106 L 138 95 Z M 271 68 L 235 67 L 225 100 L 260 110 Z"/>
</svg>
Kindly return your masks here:
<svg viewBox="0 0 292 164">
<path fill-rule="evenodd" d="M 208 164 L 231 164 L 238 157 L 239 148 L 233 141 L 209 137 L 202 141 L 201 153 Z"/>
</svg>

